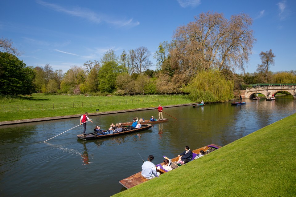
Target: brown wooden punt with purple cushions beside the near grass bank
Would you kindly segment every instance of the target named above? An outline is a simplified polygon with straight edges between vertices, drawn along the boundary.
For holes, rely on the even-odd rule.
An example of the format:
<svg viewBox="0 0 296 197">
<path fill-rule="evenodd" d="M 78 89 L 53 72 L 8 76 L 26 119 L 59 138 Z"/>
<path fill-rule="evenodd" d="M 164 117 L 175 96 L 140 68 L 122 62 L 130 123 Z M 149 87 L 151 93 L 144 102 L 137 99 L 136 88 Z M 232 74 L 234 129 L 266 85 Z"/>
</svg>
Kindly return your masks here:
<svg viewBox="0 0 296 197">
<path fill-rule="evenodd" d="M 199 151 L 201 151 L 201 150 L 203 150 L 205 155 L 206 155 L 206 154 L 209 154 L 210 152 L 213 152 L 213 151 L 217 150 L 218 148 L 221 148 L 221 147 L 217 146 L 215 144 L 210 144 L 208 146 L 201 147 L 199 149 L 196 149 L 196 150 L 192 151 L 192 153 L 193 153 L 192 158 L 194 158 L 196 155 L 198 155 Z M 171 159 L 171 161 L 176 162 L 176 161 L 178 161 L 178 159 L 179 159 L 178 157 L 175 157 L 175 158 Z M 163 163 L 159 163 L 159 164 L 155 165 L 156 169 L 157 169 L 158 166 L 160 167 L 159 170 L 157 169 L 157 171 L 160 172 L 160 174 L 163 174 L 163 173 L 167 172 L 166 170 L 164 170 L 162 168 L 162 165 L 163 165 Z M 174 165 L 174 164 L 172 164 L 172 165 Z M 142 173 L 142 171 L 138 172 L 138 173 L 136 173 L 134 175 L 131 175 L 130 177 L 122 179 L 121 181 L 119 181 L 119 183 L 121 185 L 123 185 L 123 187 L 125 187 L 126 189 L 129 189 L 129 188 L 134 187 L 134 186 L 136 186 L 138 184 L 141 184 L 141 183 L 144 183 L 144 182 L 148 181 L 148 179 L 145 179 L 144 177 L 142 177 L 141 173 Z"/>
</svg>

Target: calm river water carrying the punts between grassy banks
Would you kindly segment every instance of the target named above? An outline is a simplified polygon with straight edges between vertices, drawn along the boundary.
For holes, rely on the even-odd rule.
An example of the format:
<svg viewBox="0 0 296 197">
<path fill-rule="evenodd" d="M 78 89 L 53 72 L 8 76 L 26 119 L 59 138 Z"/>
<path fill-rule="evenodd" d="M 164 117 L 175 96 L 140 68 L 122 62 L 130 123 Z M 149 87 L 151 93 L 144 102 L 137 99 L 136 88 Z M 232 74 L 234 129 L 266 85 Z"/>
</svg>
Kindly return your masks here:
<svg viewBox="0 0 296 197">
<path fill-rule="evenodd" d="M 296 112 L 291 95 L 245 101 L 242 106 L 164 108 L 178 120 L 163 114 L 169 121 L 150 130 L 91 141 L 76 137 L 83 131 L 78 126 L 43 143 L 77 126 L 79 118 L 0 126 L 0 196 L 110 196 L 122 191 L 121 179 L 142 170 L 139 154 L 144 160 L 154 155 L 157 164 L 187 145 L 192 150 L 211 143 L 225 146 Z M 90 116 L 87 132 L 95 125 L 107 129 L 111 123 L 151 115 L 158 117 L 157 110 Z"/>
</svg>

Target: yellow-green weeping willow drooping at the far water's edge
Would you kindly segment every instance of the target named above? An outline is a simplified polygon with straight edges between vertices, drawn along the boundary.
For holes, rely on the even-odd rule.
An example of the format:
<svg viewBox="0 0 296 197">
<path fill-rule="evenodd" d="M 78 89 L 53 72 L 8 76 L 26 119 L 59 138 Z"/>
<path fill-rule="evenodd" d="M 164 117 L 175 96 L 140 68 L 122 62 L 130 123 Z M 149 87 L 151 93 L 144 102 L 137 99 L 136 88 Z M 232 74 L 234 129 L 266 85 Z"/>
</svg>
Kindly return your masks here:
<svg viewBox="0 0 296 197">
<path fill-rule="evenodd" d="M 224 102 L 233 98 L 233 80 L 226 80 L 219 70 L 200 71 L 185 88 L 194 102 Z"/>
</svg>

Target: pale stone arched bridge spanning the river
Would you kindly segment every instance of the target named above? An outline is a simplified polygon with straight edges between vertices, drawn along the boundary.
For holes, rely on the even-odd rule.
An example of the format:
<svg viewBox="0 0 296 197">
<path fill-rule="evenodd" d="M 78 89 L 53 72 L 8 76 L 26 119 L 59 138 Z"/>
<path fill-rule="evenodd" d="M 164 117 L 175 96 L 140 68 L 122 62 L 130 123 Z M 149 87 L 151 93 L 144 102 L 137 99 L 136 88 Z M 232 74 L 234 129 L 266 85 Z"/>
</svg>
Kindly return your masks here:
<svg viewBox="0 0 296 197">
<path fill-rule="evenodd" d="M 246 90 L 241 91 L 242 97 L 245 98 L 253 98 L 256 97 L 256 93 L 263 94 L 266 98 L 272 96 L 272 94 L 276 94 L 279 91 L 286 91 L 293 95 L 294 99 L 296 99 L 296 86 L 264 86 L 264 87 L 255 87 L 255 88 L 247 88 Z"/>
</svg>

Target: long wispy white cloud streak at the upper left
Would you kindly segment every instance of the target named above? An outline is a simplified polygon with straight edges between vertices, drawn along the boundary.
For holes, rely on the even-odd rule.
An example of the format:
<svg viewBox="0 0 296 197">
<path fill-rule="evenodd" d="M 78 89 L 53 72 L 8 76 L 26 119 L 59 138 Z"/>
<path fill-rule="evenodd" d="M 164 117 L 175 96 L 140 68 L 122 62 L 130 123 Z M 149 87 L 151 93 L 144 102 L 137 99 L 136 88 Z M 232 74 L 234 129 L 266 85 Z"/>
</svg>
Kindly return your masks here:
<svg viewBox="0 0 296 197">
<path fill-rule="evenodd" d="M 58 12 L 62 12 L 62 13 L 66 13 L 66 14 L 69 14 L 72 16 L 84 18 L 84 19 L 87 19 L 87 20 L 89 20 L 91 22 L 95 22 L 95 23 L 106 22 L 109 24 L 116 25 L 118 27 L 123 27 L 123 26 L 133 27 L 133 26 L 137 26 L 140 24 L 140 22 L 138 22 L 138 21 L 136 21 L 136 22 L 133 21 L 132 18 L 129 20 L 122 20 L 122 19 L 110 20 L 110 18 L 113 18 L 113 17 L 105 16 L 105 14 L 97 14 L 96 12 L 93 12 L 92 10 L 85 9 L 85 8 L 76 7 L 76 8 L 69 9 L 69 8 L 62 7 L 58 4 L 54 4 L 54 3 L 48 3 L 48 2 L 39 1 L 39 0 L 37 0 L 36 2 L 42 6 L 49 8 L 49 9 L 52 9 L 52 10 L 55 10 Z"/>
</svg>

